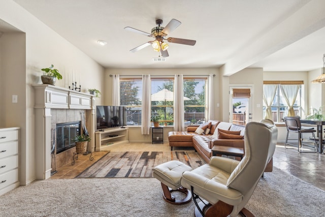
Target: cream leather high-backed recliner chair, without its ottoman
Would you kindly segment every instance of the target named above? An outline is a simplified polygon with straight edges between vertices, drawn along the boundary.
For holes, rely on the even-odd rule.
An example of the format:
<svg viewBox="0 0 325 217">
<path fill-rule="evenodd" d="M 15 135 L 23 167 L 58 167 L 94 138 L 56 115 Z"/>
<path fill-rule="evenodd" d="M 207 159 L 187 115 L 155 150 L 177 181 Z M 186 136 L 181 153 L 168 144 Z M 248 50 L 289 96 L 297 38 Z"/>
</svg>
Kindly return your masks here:
<svg viewBox="0 0 325 217">
<path fill-rule="evenodd" d="M 191 189 L 196 216 L 253 216 L 244 208 L 273 156 L 278 131 L 273 122 L 249 122 L 245 129 L 245 156 L 241 161 L 211 157 L 182 174 L 181 185 Z M 204 200 L 198 203 L 201 197 Z"/>
</svg>

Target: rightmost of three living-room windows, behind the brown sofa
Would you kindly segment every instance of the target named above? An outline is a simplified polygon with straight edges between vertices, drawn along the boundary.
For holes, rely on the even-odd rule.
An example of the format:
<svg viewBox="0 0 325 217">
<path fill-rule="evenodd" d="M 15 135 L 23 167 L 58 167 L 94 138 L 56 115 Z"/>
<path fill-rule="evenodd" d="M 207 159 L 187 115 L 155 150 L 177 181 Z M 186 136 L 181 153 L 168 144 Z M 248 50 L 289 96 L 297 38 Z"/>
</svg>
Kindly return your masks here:
<svg viewBox="0 0 325 217">
<path fill-rule="evenodd" d="M 207 78 L 184 77 L 184 119 L 185 125 L 202 123 L 206 120 Z"/>
</svg>

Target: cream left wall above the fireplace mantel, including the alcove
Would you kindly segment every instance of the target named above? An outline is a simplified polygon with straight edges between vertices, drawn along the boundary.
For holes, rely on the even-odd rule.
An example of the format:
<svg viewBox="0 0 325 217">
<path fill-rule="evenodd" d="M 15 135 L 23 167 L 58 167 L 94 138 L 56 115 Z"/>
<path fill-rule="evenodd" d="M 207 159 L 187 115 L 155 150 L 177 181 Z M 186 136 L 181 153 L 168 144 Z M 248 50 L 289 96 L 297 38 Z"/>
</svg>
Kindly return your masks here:
<svg viewBox="0 0 325 217">
<path fill-rule="evenodd" d="M 32 84 L 41 83 L 40 75 L 42 68 L 49 67 L 51 64 L 62 74 L 63 79 L 57 81 L 56 86 L 68 87 L 69 77 L 74 71 L 76 75 L 81 77 L 82 91 L 87 92 L 88 88 L 96 88 L 101 91 L 104 89 L 104 68 L 96 63 L 89 56 L 77 49 L 67 40 L 63 39 L 52 29 L 39 21 L 36 17 L 29 14 L 13 1 L 0 2 L 0 21 L 5 21 L 21 31 L 15 35 L 19 38 L 19 44 L 14 44 L 15 38 L 13 33 L 5 33 L 1 37 L 1 59 L 2 67 L 0 68 L 1 77 L 5 77 L 0 81 L 0 99 L 6 99 L 6 105 L 1 104 L 0 120 L 2 127 L 17 126 L 21 127 L 20 135 L 20 181 L 21 184 L 27 184 L 33 181 L 35 175 L 35 117 L 34 117 L 34 88 Z M 1 32 L 1 30 L 0 30 Z M 24 34 L 25 33 L 25 34 Z M 12 34 L 7 35 L 7 34 Z M 24 38 L 24 39 L 21 39 Z M 25 43 L 24 43 L 25 41 Z M 7 46 L 10 52 L 17 50 L 25 50 L 21 55 L 12 58 L 6 55 L 8 51 L 3 49 L 7 42 L 12 45 Z M 20 43 L 21 42 L 21 43 Z M 6 66 L 3 64 L 4 59 L 11 59 Z M 23 67 L 21 68 L 21 64 Z M 18 65 L 15 67 L 15 65 Z M 17 70 L 15 70 L 17 68 Z M 11 73 L 13 72 L 13 74 Z M 18 77 L 19 76 L 19 77 Z M 13 79 L 22 79 L 15 84 Z M 9 79 L 9 80 L 7 80 Z M 79 84 L 79 79 L 76 80 Z M 4 86 L 5 85 L 5 86 Z M 14 89 L 14 90 L 13 90 Z M 11 95 L 17 93 L 18 104 L 11 104 Z M 4 102 L 4 101 L 2 101 Z M 96 99 L 96 104 L 102 104 L 102 99 Z M 12 114 L 12 109 L 16 109 L 16 114 Z M 8 115 L 9 114 L 9 115 Z M 17 117 L 15 117 L 17 116 Z M 19 121 L 17 119 L 19 118 Z"/>
</svg>

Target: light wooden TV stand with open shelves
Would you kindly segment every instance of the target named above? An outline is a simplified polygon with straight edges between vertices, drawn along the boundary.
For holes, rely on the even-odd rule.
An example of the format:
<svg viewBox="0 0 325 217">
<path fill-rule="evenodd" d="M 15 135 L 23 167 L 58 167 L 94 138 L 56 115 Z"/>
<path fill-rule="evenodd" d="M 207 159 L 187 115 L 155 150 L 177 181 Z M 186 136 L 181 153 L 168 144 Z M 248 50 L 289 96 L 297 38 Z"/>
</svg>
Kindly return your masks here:
<svg viewBox="0 0 325 217">
<path fill-rule="evenodd" d="M 128 128 L 109 128 L 104 131 L 96 131 L 96 151 L 109 150 L 110 145 L 116 145 L 128 142 Z M 114 135 L 114 137 L 112 137 Z"/>
</svg>

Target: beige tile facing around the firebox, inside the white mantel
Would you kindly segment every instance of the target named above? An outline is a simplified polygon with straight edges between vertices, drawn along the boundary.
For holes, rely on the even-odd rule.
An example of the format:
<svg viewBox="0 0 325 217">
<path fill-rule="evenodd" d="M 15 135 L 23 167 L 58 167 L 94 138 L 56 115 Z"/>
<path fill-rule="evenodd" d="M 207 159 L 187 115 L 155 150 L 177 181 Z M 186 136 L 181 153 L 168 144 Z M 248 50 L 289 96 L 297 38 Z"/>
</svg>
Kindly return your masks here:
<svg viewBox="0 0 325 217">
<path fill-rule="evenodd" d="M 85 114 L 87 112 L 87 110 L 81 110 L 81 109 L 51 109 L 51 144 L 53 144 L 53 140 L 56 139 L 56 132 L 55 134 L 53 132 L 54 129 L 56 129 L 57 123 L 81 121 L 81 133 L 83 133 L 82 111 L 84 111 Z M 85 116 L 85 122 L 87 126 L 86 116 Z M 76 147 L 73 147 L 61 153 L 56 154 L 56 145 L 55 145 L 55 151 L 54 151 L 55 158 L 51 156 L 52 170 L 71 163 L 73 161 L 73 155 L 75 151 L 76 151 Z"/>
</svg>

